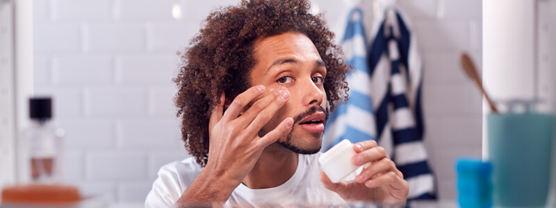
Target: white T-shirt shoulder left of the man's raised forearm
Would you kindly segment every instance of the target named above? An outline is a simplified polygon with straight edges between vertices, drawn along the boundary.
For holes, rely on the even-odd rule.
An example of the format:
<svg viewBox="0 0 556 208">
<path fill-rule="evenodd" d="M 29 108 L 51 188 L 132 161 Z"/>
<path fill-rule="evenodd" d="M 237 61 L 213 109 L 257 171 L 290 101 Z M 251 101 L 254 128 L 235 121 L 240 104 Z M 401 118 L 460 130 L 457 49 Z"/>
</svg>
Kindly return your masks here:
<svg viewBox="0 0 556 208">
<path fill-rule="evenodd" d="M 174 205 L 201 171 L 194 157 L 165 164 L 158 170 L 158 177 L 145 200 L 145 207 Z"/>
</svg>

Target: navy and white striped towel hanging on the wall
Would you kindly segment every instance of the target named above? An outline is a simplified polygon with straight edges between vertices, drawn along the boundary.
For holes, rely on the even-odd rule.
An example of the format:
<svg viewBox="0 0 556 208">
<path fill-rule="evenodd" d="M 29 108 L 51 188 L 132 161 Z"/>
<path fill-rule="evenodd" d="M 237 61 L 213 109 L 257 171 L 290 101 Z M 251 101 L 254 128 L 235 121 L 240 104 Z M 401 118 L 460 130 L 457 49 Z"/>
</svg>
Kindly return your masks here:
<svg viewBox="0 0 556 208">
<path fill-rule="evenodd" d="M 434 176 L 423 144 L 420 105 L 423 68 L 416 37 L 395 8 L 373 23 L 368 64 L 372 75 L 379 145 L 409 183 L 408 200 L 435 199 Z"/>
</svg>

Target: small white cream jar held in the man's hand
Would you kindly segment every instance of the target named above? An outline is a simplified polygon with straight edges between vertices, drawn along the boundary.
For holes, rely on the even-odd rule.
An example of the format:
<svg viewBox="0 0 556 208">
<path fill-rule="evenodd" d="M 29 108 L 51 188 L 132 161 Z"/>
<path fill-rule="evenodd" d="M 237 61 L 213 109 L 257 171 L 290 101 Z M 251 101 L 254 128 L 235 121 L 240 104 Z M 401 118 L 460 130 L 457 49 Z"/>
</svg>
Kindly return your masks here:
<svg viewBox="0 0 556 208">
<path fill-rule="evenodd" d="M 337 183 L 359 168 L 352 163 L 352 157 L 355 155 L 353 144 L 350 140 L 344 139 L 320 155 L 318 163 L 330 180 Z"/>
</svg>

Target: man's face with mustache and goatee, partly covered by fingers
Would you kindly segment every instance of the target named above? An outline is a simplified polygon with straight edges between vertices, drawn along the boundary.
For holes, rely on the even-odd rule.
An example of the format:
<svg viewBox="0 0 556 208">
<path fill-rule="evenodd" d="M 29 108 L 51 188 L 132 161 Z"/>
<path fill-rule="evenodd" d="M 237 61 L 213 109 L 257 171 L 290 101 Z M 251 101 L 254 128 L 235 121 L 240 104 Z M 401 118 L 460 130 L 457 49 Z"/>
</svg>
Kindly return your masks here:
<svg viewBox="0 0 556 208">
<path fill-rule="evenodd" d="M 259 135 L 265 135 L 281 121 L 292 117 L 291 132 L 283 135 L 277 144 L 295 153 L 317 153 L 328 112 L 324 87 L 327 69 L 315 45 L 300 33 L 284 33 L 257 40 L 254 56 L 256 65 L 251 71 L 252 85 L 265 85 L 267 90 L 263 96 L 279 87 L 286 87 L 290 92 L 288 102 Z"/>
</svg>

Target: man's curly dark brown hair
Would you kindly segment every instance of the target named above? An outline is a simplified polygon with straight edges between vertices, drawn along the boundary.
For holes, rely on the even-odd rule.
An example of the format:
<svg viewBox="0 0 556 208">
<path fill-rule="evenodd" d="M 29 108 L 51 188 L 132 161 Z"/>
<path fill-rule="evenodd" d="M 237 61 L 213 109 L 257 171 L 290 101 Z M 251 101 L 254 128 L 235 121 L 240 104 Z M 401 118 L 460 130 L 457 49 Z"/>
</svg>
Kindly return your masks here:
<svg viewBox="0 0 556 208">
<path fill-rule="evenodd" d="M 330 110 L 347 101 L 345 73 L 350 67 L 322 14 L 309 14 L 309 7 L 306 0 L 243 0 L 239 6 L 219 8 L 181 54 L 174 102 L 182 119 L 181 138 L 200 166 L 208 162 L 208 119 L 220 95 L 233 98 L 251 86 L 255 40 L 288 32 L 306 35 L 327 68 L 324 87 Z"/>
</svg>

